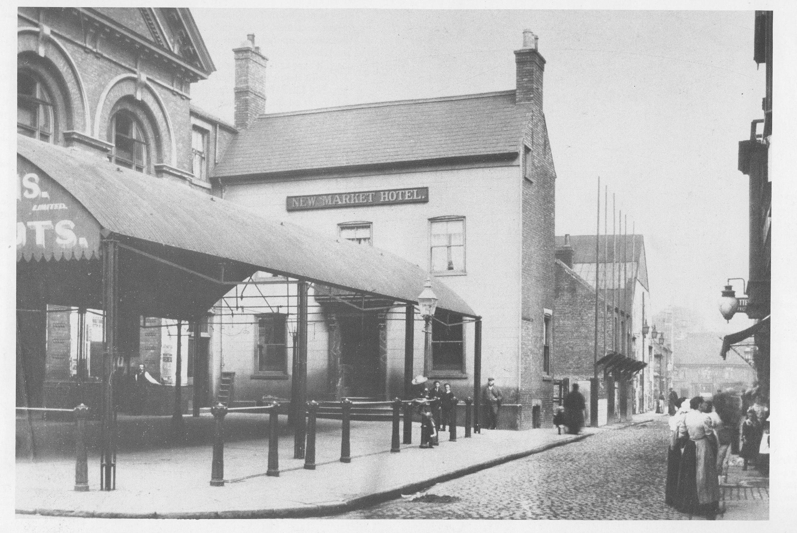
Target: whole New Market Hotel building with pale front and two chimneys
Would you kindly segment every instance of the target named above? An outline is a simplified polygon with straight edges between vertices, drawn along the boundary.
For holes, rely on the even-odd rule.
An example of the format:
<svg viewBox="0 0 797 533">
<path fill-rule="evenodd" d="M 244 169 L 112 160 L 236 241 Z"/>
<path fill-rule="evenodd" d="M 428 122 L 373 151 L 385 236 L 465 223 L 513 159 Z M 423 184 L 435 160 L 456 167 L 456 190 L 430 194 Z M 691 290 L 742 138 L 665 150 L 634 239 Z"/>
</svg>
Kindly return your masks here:
<svg viewBox="0 0 797 533">
<path fill-rule="evenodd" d="M 496 378 L 504 391 L 501 425 L 550 425 L 556 173 L 536 37 L 525 32 L 515 52 L 513 90 L 276 114 L 261 114 L 265 57 L 253 36 L 234 57 L 241 133 L 214 174 L 223 198 L 379 247 L 444 280 L 482 315 L 482 381 Z M 289 394 L 294 290 L 275 278 L 262 294 L 236 300 L 248 311 L 218 308 L 231 325 L 213 351 L 237 401 Z M 355 308 L 346 296 L 311 295 L 308 394 L 401 395 L 405 339 L 398 314 L 385 309 L 392 302 Z M 473 323 L 435 318 L 430 357 L 415 359 L 414 374 L 450 382 L 465 398 L 473 394 Z M 422 321 L 416 329 L 422 353 Z M 274 357 L 262 363 L 272 344 Z"/>
</svg>

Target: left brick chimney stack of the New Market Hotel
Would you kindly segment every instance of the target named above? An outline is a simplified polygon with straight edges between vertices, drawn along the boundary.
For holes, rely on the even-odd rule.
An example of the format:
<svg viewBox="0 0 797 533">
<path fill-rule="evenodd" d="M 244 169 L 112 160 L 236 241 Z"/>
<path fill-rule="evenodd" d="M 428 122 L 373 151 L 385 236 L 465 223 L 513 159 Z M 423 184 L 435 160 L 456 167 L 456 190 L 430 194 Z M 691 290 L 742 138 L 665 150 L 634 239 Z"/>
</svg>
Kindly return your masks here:
<svg viewBox="0 0 797 533">
<path fill-rule="evenodd" d="M 235 54 L 235 127 L 245 130 L 265 112 L 265 64 L 269 61 L 254 45 L 254 33 L 233 49 Z"/>
</svg>

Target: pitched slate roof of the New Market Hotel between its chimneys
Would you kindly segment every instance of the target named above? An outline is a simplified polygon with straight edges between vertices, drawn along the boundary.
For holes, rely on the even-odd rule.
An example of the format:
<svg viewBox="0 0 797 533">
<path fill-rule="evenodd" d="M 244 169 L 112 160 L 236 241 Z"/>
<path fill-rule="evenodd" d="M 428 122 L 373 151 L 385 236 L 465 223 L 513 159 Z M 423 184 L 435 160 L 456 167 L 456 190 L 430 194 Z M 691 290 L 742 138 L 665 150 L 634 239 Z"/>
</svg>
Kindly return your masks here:
<svg viewBox="0 0 797 533">
<path fill-rule="evenodd" d="M 216 176 L 516 153 L 527 110 L 512 90 L 261 115 Z"/>
</svg>

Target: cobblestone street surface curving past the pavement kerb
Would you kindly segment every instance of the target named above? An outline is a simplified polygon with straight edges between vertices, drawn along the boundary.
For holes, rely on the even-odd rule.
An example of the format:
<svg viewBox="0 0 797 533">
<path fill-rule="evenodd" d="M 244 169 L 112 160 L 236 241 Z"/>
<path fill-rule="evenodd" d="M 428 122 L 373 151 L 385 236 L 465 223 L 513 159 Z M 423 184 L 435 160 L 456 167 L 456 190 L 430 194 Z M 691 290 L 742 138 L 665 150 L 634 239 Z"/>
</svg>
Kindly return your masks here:
<svg viewBox="0 0 797 533">
<path fill-rule="evenodd" d="M 688 519 L 664 504 L 668 432 L 662 418 L 602 432 L 437 484 L 427 495 L 449 496 L 427 496 L 438 501 L 393 500 L 329 518 Z"/>
</svg>

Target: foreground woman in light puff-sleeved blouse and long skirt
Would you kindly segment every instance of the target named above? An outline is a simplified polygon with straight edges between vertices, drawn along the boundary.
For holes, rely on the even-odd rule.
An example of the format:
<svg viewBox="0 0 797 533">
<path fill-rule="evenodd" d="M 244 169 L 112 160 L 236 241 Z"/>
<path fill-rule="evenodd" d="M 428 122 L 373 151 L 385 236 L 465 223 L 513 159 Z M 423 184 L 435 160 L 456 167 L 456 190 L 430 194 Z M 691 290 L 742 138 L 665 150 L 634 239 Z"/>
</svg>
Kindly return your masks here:
<svg viewBox="0 0 797 533">
<path fill-rule="evenodd" d="M 678 437 L 686 439 L 678 472 L 677 509 L 689 515 L 717 518 L 720 484 L 717 480 L 717 437 L 709 410 L 700 396 L 689 402 L 692 412 L 678 424 Z"/>
</svg>

